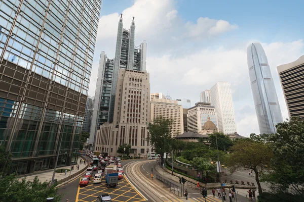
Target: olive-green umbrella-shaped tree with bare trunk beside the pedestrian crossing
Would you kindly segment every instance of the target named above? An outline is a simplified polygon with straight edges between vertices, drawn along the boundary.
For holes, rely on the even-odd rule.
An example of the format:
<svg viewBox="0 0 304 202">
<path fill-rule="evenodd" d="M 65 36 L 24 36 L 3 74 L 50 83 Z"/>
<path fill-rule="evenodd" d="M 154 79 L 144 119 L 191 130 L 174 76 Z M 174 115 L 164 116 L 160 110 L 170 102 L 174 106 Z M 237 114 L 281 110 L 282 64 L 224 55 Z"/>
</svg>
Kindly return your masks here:
<svg viewBox="0 0 304 202">
<path fill-rule="evenodd" d="M 255 181 L 259 194 L 262 188 L 259 181 L 259 175 L 265 170 L 265 166 L 270 165 L 271 159 L 274 158 L 272 149 L 267 144 L 255 142 L 246 138 L 237 141 L 231 147 L 232 153 L 226 159 L 226 166 L 231 173 L 241 169 L 251 169 L 255 173 Z"/>
</svg>

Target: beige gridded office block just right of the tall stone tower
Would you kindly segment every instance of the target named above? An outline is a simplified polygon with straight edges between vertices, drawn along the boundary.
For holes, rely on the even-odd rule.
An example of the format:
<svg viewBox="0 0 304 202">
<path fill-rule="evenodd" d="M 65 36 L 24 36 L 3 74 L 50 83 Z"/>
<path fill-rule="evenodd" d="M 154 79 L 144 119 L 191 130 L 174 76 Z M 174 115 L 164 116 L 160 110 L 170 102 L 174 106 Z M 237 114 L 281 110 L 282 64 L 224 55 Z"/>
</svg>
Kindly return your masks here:
<svg viewBox="0 0 304 202">
<path fill-rule="evenodd" d="M 172 119 L 173 124 L 171 128 L 171 137 L 174 138 L 183 133 L 183 114 L 182 107 L 178 105 L 177 100 L 172 99 L 152 99 L 150 120 L 157 117 L 164 117 L 166 119 Z"/>
</svg>

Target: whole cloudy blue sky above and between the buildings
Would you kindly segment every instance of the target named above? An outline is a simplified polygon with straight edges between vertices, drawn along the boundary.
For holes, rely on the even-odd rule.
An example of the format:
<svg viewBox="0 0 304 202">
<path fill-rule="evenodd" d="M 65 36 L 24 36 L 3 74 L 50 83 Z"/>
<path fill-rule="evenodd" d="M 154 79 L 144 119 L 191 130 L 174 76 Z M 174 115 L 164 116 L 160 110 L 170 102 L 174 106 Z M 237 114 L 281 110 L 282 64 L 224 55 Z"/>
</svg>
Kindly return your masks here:
<svg viewBox="0 0 304 202">
<path fill-rule="evenodd" d="M 150 91 L 199 102 L 217 81 L 231 84 L 237 132 L 259 134 L 246 48 L 260 42 L 268 57 L 283 115 L 288 118 L 276 67 L 304 55 L 303 1 L 103 0 L 89 95 L 94 96 L 100 53 L 113 58 L 119 16 L 135 45 L 147 41 Z"/>
</svg>

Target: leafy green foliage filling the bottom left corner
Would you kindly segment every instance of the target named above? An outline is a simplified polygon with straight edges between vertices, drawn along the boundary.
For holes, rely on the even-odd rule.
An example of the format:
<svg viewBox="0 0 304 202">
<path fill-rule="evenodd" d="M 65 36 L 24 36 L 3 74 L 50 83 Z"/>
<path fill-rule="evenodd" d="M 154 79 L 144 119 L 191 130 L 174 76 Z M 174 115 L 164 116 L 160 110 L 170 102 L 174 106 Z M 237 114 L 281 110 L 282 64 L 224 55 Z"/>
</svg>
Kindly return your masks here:
<svg viewBox="0 0 304 202">
<path fill-rule="evenodd" d="M 54 197 L 54 202 L 59 202 L 62 195 L 57 194 L 55 186 L 50 186 L 50 182 L 40 182 L 37 176 L 31 182 L 19 181 L 15 175 L 8 175 L 0 179 L 0 200 L 41 202 Z"/>
</svg>

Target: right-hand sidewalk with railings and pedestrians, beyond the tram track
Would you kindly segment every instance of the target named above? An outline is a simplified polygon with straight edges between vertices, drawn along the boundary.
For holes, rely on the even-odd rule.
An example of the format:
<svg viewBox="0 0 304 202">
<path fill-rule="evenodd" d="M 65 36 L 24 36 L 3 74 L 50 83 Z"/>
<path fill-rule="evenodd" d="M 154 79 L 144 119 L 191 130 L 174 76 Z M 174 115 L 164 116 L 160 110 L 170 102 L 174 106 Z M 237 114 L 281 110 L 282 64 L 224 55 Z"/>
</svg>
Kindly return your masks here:
<svg viewBox="0 0 304 202">
<path fill-rule="evenodd" d="M 172 171 L 170 171 L 168 169 L 163 169 L 161 166 L 157 166 L 157 165 L 155 165 L 155 170 L 158 172 L 159 175 L 162 175 L 163 177 L 165 177 L 165 178 L 169 179 L 170 181 L 174 182 L 175 184 L 179 184 L 179 178 L 172 175 Z M 174 174 L 179 176 L 179 174 L 177 174 L 177 173 L 174 173 Z M 180 175 L 180 176 L 182 176 L 182 175 Z M 191 178 L 188 178 L 188 177 L 185 177 L 185 176 L 183 176 L 183 177 L 187 181 L 188 181 L 188 179 L 193 181 L 193 179 L 191 179 Z M 190 186 L 190 184 L 191 184 L 191 186 Z M 188 190 L 188 197 L 202 196 L 202 195 L 200 195 L 200 189 L 196 187 L 196 184 L 192 185 L 192 183 L 185 183 L 184 184 L 184 189 Z M 226 190 L 226 194 L 228 195 L 229 194 L 229 189 L 225 188 L 225 190 Z M 236 189 L 236 192 L 237 192 L 238 202 L 249 201 L 249 198 L 246 198 L 247 189 Z M 208 197 L 213 198 L 211 189 L 208 189 L 207 193 L 208 193 Z M 248 195 L 247 195 L 247 197 L 248 197 Z M 217 196 L 217 192 L 215 192 L 215 198 L 221 199 L 220 197 Z M 226 201 L 229 201 L 229 196 L 226 196 Z M 233 200 L 233 201 L 235 201 L 235 200 Z M 255 201 L 255 200 L 251 200 L 251 201 Z"/>
</svg>

